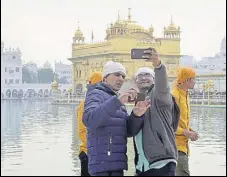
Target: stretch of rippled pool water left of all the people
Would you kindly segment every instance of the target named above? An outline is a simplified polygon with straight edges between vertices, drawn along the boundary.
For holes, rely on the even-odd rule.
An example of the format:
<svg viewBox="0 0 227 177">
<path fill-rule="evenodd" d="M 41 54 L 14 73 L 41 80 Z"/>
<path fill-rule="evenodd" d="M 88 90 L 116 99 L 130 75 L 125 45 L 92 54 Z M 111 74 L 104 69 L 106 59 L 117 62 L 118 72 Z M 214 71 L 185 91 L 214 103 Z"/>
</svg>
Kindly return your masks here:
<svg viewBox="0 0 227 177">
<path fill-rule="evenodd" d="M 76 175 L 71 148 L 75 108 L 27 101 L 1 104 L 2 175 Z"/>
</svg>

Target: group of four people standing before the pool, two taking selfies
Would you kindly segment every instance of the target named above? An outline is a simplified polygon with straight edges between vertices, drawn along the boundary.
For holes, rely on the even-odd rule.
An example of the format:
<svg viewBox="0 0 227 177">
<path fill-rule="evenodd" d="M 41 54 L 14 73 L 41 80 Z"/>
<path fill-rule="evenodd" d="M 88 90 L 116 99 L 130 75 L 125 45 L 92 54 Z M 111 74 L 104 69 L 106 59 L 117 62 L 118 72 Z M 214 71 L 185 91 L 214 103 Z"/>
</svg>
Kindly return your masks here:
<svg viewBox="0 0 227 177">
<path fill-rule="evenodd" d="M 144 56 L 154 70 L 138 68 L 137 88 L 120 91 L 126 77 L 121 63 L 108 61 L 102 73 L 90 76 L 86 98 L 77 107 L 81 176 L 124 176 L 128 138 L 133 138 L 135 176 L 190 176 L 189 140 L 199 138 L 190 127 L 188 97 L 195 71 L 178 68 L 170 86 L 157 51 Z M 129 114 L 128 103 L 133 103 Z"/>
</svg>

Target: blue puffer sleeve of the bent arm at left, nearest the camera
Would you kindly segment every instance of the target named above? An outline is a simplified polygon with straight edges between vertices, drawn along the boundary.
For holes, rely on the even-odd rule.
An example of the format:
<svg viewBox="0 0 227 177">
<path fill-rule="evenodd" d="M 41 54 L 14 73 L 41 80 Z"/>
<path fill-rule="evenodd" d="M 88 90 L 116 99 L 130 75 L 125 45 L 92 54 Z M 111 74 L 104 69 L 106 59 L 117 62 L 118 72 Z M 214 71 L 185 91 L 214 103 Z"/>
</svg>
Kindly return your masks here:
<svg viewBox="0 0 227 177">
<path fill-rule="evenodd" d="M 89 92 L 85 100 L 83 123 L 88 128 L 97 129 L 113 117 L 121 106 L 116 96 L 104 101 L 102 93 Z"/>
</svg>

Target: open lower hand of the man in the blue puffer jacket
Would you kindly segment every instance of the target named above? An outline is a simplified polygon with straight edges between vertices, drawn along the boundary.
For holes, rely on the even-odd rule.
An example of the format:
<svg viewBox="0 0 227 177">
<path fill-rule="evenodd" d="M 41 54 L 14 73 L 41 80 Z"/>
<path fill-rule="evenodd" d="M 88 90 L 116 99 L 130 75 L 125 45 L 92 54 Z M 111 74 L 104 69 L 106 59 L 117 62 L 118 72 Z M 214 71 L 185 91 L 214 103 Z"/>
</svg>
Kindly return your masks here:
<svg viewBox="0 0 227 177">
<path fill-rule="evenodd" d="M 141 117 L 145 114 L 147 109 L 151 106 L 150 100 L 139 101 L 136 103 L 136 106 L 133 108 L 133 114 L 137 117 Z"/>
</svg>

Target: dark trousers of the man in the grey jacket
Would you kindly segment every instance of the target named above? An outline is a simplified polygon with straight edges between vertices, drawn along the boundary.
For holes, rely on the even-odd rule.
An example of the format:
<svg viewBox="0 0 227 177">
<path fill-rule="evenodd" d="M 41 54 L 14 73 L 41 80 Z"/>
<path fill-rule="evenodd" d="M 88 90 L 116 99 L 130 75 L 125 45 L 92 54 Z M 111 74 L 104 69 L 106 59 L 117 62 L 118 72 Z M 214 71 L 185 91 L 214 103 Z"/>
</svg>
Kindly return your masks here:
<svg viewBox="0 0 227 177">
<path fill-rule="evenodd" d="M 150 169 L 145 172 L 136 171 L 136 176 L 176 176 L 176 164 L 169 162 L 160 169 Z"/>
</svg>

